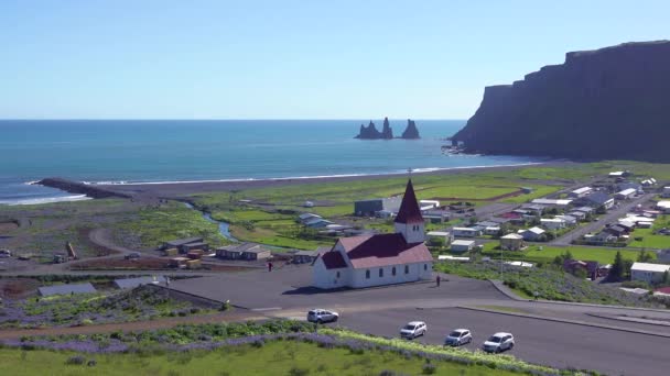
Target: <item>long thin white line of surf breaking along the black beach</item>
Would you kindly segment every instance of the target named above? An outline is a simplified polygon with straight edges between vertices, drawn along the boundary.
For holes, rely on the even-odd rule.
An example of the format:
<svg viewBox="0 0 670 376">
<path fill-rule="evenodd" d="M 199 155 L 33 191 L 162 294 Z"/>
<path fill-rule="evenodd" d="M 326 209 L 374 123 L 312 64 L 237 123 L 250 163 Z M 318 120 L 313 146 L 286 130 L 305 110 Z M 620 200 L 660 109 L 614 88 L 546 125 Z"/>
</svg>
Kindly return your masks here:
<svg viewBox="0 0 670 376">
<path fill-rule="evenodd" d="M 527 162 L 507 165 L 480 165 L 480 166 L 456 166 L 456 167 L 422 167 L 412 168 L 412 174 L 435 173 L 454 169 L 471 169 L 471 168 L 495 168 L 495 167 L 523 167 L 541 165 L 547 162 Z M 388 176 L 388 175 L 406 175 L 409 169 L 395 170 L 387 173 L 366 173 L 366 174 L 335 174 L 335 175 L 310 175 L 310 176 L 289 176 L 274 178 L 236 178 L 236 179 L 204 179 L 204 180 L 160 180 L 160 181 L 128 181 L 128 180 L 109 180 L 109 181 L 82 181 L 94 186 L 144 186 L 144 185 L 168 185 L 168 184 L 201 184 L 201 183 L 238 183 L 238 181 L 282 181 L 282 180 L 300 180 L 300 179 L 323 179 L 323 178 L 339 178 L 339 177 L 357 177 L 357 176 Z"/>
</svg>

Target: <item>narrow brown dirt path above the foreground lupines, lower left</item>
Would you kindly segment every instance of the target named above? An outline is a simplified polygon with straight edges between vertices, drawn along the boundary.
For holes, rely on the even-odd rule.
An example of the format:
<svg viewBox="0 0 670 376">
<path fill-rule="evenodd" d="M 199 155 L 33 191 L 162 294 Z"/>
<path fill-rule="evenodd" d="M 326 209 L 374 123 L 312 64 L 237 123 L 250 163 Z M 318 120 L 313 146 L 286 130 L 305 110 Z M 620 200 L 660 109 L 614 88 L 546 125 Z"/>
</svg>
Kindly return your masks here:
<svg viewBox="0 0 670 376">
<path fill-rule="evenodd" d="M 180 324 L 201 324 L 235 321 L 258 321 L 268 317 L 247 310 L 236 309 L 231 312 L 190 316 L 184 318 L 165 318 L 151 321 L 118 322 L 88 327 L 44 328 L 44 329 L 10 329 L 0 330 L 0 340 L 17 340 L 33 335 L 63 335 L 63 334 L 95 334 L 116 331 L 148 331 L 173 328 Z"/>
</svg>

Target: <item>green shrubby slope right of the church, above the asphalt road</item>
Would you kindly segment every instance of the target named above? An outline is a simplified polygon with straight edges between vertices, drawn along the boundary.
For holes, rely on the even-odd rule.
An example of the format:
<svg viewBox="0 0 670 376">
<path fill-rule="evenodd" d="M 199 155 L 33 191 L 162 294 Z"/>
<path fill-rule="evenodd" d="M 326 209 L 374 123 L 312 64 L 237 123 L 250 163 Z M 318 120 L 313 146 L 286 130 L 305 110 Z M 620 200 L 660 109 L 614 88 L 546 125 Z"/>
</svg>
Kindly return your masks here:
<svg viewBox="0 0 670 376">
<path fill-rule="evenodd" d="M 501 279 L 523 298 L 537 291 L 540 299 L 629 307 L 660 307 L 649 297 L 627 294 L 616 287 L 577 278 L 553 268 L 526 268 L 489 263 L 435 263 L 435 269 L 475 279 Z"/>
</svg>

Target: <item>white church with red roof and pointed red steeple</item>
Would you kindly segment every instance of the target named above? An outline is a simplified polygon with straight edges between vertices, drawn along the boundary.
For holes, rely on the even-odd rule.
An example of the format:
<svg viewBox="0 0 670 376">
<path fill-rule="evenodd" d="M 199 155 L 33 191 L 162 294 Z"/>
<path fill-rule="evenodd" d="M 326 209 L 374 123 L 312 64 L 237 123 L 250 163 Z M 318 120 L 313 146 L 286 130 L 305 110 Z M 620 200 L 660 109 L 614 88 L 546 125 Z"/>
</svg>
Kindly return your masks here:
<svg viewBox="0 0 670 376">
<path fill-rule="evenodd" d="M 432 279 L 433 256 L 424 244 L 425 223 L 409 180 L 395 233 L 341 237 L 313 266 L 313 286 L 361 288 Z"/>
</svg>

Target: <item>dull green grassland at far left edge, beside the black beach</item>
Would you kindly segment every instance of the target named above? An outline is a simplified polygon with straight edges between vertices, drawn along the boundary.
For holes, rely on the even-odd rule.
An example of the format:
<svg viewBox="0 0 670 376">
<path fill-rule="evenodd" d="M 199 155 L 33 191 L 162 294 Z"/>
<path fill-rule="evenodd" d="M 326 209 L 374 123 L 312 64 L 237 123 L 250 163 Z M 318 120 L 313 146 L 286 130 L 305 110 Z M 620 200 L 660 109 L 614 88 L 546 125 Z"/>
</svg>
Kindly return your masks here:
<svg viewBox="0 0 670 376">
<path fill-rule="evenodd" d="M 123 199 L 99 199 L 43 204 L 1 206 L 0 218 L 15 221 L 18 228 L 0 246 L 17 254 L 32 254 L 40 262 L 51 262 L 55 252 L 65 252 L 71 242 L 79 257 L 106 255 L 108 250 L 93 244 L 90 230 L 114 226 L 132 217 L 139 204 Z"/>
</svg>

